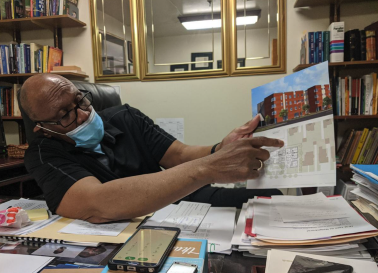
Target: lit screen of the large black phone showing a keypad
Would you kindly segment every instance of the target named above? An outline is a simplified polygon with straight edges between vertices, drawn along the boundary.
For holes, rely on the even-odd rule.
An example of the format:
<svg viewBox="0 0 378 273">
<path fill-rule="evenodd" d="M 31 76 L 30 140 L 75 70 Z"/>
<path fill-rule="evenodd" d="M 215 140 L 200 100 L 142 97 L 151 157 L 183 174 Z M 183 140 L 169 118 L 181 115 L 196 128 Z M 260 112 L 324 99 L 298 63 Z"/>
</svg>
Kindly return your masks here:
<svg viewBox="0 0 378 273">
<path fill-rule="evenodd" d="M 113 261 L 132 261 L 157 264 L 177 231 L 140 229 L 113 258 Z"/>
</svg>

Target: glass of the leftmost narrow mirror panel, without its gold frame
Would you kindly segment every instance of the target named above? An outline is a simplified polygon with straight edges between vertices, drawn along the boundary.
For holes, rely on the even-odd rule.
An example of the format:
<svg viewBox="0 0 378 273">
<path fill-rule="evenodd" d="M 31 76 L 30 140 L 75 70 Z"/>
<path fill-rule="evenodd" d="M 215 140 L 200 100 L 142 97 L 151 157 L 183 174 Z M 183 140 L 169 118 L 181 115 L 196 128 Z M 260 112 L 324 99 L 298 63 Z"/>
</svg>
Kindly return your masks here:
<svg viewBox="0 0 378 273">
<path fill-rule="evenodd" d="M 95 0 L 102 75 L 134 74 L 130 0 Z"/>
</svg>

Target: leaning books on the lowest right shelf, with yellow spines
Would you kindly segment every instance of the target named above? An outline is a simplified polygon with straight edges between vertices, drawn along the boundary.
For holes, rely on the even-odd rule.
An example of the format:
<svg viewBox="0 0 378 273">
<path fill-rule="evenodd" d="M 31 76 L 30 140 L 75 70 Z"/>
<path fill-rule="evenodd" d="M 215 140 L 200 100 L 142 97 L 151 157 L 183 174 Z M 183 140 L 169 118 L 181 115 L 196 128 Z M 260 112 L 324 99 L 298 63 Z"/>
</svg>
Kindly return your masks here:
<svg viewBox="0 0 378 273">
<path fill-rule="evenodd" d="M 340 144 L 336 153 L 337 163 L 349 164 L 377 164 L 378 163 L 378 128 L 362 131 L 351 129 Z"/>
</svg>

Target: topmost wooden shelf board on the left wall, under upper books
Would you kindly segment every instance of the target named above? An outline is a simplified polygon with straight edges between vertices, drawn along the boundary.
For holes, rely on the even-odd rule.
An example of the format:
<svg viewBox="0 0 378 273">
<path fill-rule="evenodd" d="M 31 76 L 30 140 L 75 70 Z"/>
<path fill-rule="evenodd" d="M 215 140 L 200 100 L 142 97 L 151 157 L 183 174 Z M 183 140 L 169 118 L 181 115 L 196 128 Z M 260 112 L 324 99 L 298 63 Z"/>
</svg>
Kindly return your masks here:
<svg viewBox="0 0 378 273">
<path fill-rule="evenodd" d="M 54 15 L 43 17 L 0 20 L 0 30 L 41 30 L 54 28 L 83 28 L 87 24 L 69 15 Z"/>
</svg>

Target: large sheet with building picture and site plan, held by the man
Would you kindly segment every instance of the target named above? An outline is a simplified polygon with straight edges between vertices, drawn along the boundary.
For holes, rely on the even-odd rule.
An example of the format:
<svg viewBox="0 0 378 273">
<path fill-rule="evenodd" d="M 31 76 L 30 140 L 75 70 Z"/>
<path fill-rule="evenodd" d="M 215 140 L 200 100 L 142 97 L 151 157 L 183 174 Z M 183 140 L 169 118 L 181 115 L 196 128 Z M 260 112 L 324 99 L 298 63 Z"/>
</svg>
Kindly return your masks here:
<svg viewBox="0 0 378 273">
<path fill-rule="evenodd" d="M 284 141 L 265 148 L 270 158 L 247 188 L 336 185 L 335 132 L 328 62 L 252 89 L 252 115 L 260 116 L 254 137 Z M 263 118 L 263 121 L 261 120 Z"/>
</svg>

